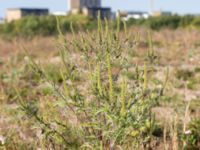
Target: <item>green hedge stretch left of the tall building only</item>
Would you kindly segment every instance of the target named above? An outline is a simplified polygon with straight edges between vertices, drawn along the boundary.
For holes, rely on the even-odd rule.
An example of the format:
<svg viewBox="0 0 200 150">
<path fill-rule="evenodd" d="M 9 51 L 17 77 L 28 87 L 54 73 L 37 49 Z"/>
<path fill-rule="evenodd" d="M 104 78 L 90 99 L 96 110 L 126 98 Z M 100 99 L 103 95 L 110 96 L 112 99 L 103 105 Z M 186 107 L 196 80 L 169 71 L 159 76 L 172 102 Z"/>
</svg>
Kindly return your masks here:
<svg viewBox="0 0 200 150">
<path fill-rule="evenodd" d="M 70 24 L 80 30 L 95 28 L 95 21 L 91 18 L 75 15 L 58 17 L 59 27 L 62 32 L 70 31 Z M 33 37 L 35 35 L 55 35 L 57 31 L 57 20 L 55 16 L 29 16 L 17 21 L 0 25 L 0 33 L 6 37 L 22 36 Z"/>
</svg>

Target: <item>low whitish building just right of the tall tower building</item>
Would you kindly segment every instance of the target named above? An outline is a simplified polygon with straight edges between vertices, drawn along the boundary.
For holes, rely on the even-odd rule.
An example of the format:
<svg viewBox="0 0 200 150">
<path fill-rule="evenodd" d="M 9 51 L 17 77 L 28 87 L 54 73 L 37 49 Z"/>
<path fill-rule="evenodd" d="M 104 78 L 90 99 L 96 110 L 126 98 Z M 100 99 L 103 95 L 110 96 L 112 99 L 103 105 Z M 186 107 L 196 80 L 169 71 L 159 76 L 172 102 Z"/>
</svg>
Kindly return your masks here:
<svg viewBox="0 0 200 150">
<path fill-rule="evenodd" d="M 147 19 L 149 18 L 149 13 L 142 11 L 118 11 L 116 16 L 124 21 L 128 21 L 129 19 Z"/>
</svg>

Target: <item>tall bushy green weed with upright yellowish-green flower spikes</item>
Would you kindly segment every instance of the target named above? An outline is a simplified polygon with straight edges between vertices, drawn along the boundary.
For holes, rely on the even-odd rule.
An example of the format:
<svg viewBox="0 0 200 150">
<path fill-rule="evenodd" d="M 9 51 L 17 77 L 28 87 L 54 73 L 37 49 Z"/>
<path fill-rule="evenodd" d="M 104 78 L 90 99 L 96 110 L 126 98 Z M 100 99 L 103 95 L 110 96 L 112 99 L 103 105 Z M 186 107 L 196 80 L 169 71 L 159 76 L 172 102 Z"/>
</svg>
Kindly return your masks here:
<svg viewBox="0 0 200 150">
<path fill-rule="evenodd" d="M 20 104 L 40 124 L 53 145 L 67 149 L 151 147 L 155 125 L 151 108 L 162 96 L 163 88 L 148 86 L 148 62 L 144 62 L 144 67 L 135 65 L 135 78 L 125 76 L 127 66 L 134 66 L 125 49 L 132 49 L 132 39 L 137 38 L 127 35 L 124 23 L 126 39 L 123 39 L 120 24 L 118 20 L 115 30 L 99 17 L 97 35 L 79 33 L 79 36 L 71 25 L 72 40 L 65 39 L 59 30 L 62 60 L 57 68 L 59 82 L 50 78 L 42 65 L 29 59 L 31 68 L 51 85 L 57 101 L 54 111 L 60 115 L 54 121 L 44 119 L 40 106 L 33 105 L 33 109 L 23 98 Z"/>
</svg>

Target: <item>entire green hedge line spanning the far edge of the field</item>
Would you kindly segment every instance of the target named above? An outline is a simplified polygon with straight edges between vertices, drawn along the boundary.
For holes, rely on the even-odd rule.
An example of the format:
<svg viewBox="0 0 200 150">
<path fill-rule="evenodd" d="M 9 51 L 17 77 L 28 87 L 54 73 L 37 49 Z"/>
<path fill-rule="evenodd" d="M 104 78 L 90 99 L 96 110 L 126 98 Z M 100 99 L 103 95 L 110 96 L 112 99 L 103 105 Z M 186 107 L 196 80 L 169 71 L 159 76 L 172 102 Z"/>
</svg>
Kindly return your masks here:
<svg viewBox="0 0 200 150">
<path fill-rule="evenodd" d="M 58 17 L 59 26 L 62 32 L 70 31 L 70 24 L 73 23 L 75 31 L 93 30 L 97 28 L 96 20 L 75 15 Z M 115 22 L 111 23 L 113 26 Z M 177 29 L 195 27 L 200 29 L 200 17 L 187 16 L 161 16 L 150 17 L 149 19 L 130 19 L 127 26 L 145 26 L 153 30 L 163 28 Z M 0 25 L 0 34 L 5 37 L 33 37 L 35 35 L 49 36 L 57 34 L 57 21 L 55 16 L 29 16 L 23 19 Z"/>
</svg>

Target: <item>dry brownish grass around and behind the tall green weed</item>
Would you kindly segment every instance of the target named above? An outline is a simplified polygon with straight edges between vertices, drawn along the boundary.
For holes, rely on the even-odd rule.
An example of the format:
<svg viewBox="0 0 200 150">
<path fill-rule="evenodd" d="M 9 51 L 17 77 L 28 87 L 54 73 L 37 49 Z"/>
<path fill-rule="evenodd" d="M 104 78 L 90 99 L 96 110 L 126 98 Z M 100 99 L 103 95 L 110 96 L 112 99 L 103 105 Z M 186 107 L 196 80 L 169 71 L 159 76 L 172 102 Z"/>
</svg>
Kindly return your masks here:
<svg viewBox="0 0 200 150">
<path fill-rule="evenodd" d="M 140 35 L 140 38 L 133 49 L 124 50 L 124 55 L 128 55 L 128 59 L 133 66 L 128 68 L 128 77 L 131 78 L 133 70 L 135 70 L 134 65 L 137 64 L 142 66 L 144 64 L 143 62 L 148 50 L 148 42 L 146 42 L 148 34 L 146 29 L 142 28 L 131 28 L 128 33 L 139 33 Z M 69 40 L 72 39 L 72 35 L 70 34 L 66 35 L 66 37 Z M 124 37 L 123 33 L 121 37 Z M 160 143 L 162 144 L 160 144 L 157 149 L 164 149 L 165 147 L 165 149 L 177 150 L 179 144 L 178 126 L 183 123 L 184 132 L 188 128 L 188 122 L 184 122 L 185 120 L 183 118 L 186 116 L 188 117 L 188 114 L 190 114 L 191 118 L 200 117 L 200 71 L 198 71 L 198 68 L 200 68 L 200 33 L 195 30 L 178 29 L 172 31 L 166 29 L 159 32 L 153 32 L 152 39 L 157 56 L 155 68 L 153 68 L 153 71 L 149 70 L 148 73 L 149 75 L 152 74 L 152 82 L 156 83 L 159 87 L 161 81 L 165 78 L 166 67 L 168 66 L 169 68 L 169 82 L 166 85 L 166 97 L 163 98 L 159 106 L 154 108 L 153 111 L 156 113 L 157 120 L 162 124 L 171 121 L 171 127 L 170 125 L 168 125 L 168 127 L 164 125 L 164 135 L 160 139 Z M 20 143 L 22 149 L 27 147 L 29 143 L 32 143 L 34 146 L 40 144 L 40 147 L 42 147 L 42 142 L 39 140 L 34 141 L 35 136 L 37 135 L 35 134 L 35 129 L 32 129 L 29 126 L 33 122 L 28 122 L 27 120 L 23 122 L 22 114 L 16 113 L 19 106 L 15 103 L 15 96 L 13 96 L 12 93 L 11 95 L 8 95 L 10 94 L 9 88 L 12 83 L 8 83 L 7 80 L 12 75 L 11 72 L 18 71 L 18 69 L 20 70 L 22 64 L 25 62 L 26 58 L 24 57 L 25 54 L 23 48 L 28 50 L 35 60 L 40 61 L 41 64 L 59 66 L 61 59 L 58 57 L 59 53 L 56 43 L 57 40 L 55 37 L 36 37 L 34 39 L 15 39 L 13 41 L 0 40 L 0 76 L 2 78 L 2 81 L 0 81 L 0 136 L 6 137 L 7 139 L 9 139 L 8 136 L 13 136 L 16 143 L 26 140 L 25 143 Z M 77 61 L 77 66 L 82 66 L 83 62 L 80 58 L 80 54 L 75 49 L 71 51 L 73 52 L 73 57 L 71 59 Z M 117 65 L 112 69 L 114 75 L 119 73 L 120 69 Z M 177 70 L 184 70 L 184 72 L 181 73 L 181 77 L 177 77 Z M 185 70 L 192 71 L 194 75 L 188 77 Z M 184 73 L 186 73 L 185 80 L 182 78 Z M 84 80 L 84 78 L 81 78 L 77 83 L 81 83 Z M 35 85 L 34 81 L 31 79 L 31 75 L 29 75 L 29 79 L 23 79 L 20 83 L 22 84 L 22 88 L 28 86 L 32 90 L 28 93 L 29 98 L 39 98 L 42 108 L 45 109 L 45 107 L 49 107 L 49 111 L 51 112 L 51 109 L 53 111 L 54 108 L 51 108 L 48 104 L 51 103 L 50 99 L 52 99 L 52 97 L 49 97 L 48 94 L 44 95 L 37 90 L 48 87 L 47 84 L 42 84 L 40 86 Z M 149 84 L 151 85 L 151 83 Z M 88 88 L 87 86 L 88 85 L 85 85 L 80 88 L 86 90 Z M 110 86 L 112 86 L 112 82 L 110 83 Z M 48 92 L 49 91 L 47 91 L 47 93 Z M 188 100 L 190 101 L 190 106 L 187 106 Z M 179 118 L 174 118 L 174 114 L 176 113 Z M 57 114 L 54 115 L 56 117 Z M 46 119 L 52 117 L 49 116 L 49 114 L 45 114 L 45 116 Z M 63 118 L 65 117 L 66 116 Z M 172 121 L 173 119 L 175 120 Z M 181 122 L 181 119 L 183 119 L 183 122 Z M 71 122 L 76 121 L 73 117 L 69 118 L 69 120 Z M 171 128 L 171 131 L 169 132 L 173 132 L 173 134 L 170 135 L 171 139 L 169 139 L 168 129 L 166 128 Z"/>
</svg>

